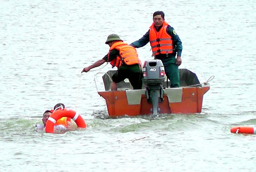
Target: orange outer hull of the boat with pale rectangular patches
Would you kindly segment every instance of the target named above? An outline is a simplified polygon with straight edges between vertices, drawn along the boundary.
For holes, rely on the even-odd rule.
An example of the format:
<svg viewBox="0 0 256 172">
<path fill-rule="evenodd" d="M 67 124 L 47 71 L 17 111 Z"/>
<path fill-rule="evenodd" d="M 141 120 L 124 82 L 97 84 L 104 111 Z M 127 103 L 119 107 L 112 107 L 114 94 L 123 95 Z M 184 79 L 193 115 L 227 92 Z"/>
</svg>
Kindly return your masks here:
<svg viewBox="0 0 256 172">
<path fill-rule="evenodd" d="M 203 95 L 207 87 L 166 88 L 163 101 L 159 102 L 160 113 L 200 113 Z M 98 92 L 106 100 L 109 116 L 151 115 L 152 104 L 148 103 L 145 89 Z"/>
</svg>

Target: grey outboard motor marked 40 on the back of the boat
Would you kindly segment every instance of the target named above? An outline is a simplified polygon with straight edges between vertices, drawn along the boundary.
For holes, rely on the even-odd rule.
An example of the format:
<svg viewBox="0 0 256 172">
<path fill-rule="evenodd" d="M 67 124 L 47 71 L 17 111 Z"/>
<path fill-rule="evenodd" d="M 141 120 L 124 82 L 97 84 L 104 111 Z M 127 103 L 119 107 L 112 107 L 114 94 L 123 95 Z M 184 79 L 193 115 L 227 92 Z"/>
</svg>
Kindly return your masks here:
<svg viewBox="0 0 256 172">
<path fill-rule="evenodd" d="M 152 103 L 152 113 L 160 112 L 159 102 L 163 101 L 163 82 L 165 81 L 165 69 L 161 60 L 146 60 L 143 65 L 143 83 L 146 85 L 148 103 Z"/>
</svg>

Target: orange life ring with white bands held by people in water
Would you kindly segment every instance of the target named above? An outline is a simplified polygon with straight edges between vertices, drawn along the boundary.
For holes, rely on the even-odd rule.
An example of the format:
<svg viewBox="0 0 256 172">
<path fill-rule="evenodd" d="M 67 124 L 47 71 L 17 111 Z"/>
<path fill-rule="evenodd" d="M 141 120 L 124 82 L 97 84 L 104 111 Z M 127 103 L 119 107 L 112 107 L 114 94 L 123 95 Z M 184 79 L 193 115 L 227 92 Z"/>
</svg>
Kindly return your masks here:
<svg viewBox="0 0 256 172">
<path fill-rule="evenodd" d="M 75 121 L 76 125 L 80 128 L 86 128 L 86 123 L 82 116 L 72 109 L 59 109 L 54 111 L 52 115 L 48 118 L 46 125 L 45 125 L 45 132 L 46 133 L 54 133 L 54 125 L 57 120 L 61 119 L 62 117 L 69 117 Z"/>
</svg>

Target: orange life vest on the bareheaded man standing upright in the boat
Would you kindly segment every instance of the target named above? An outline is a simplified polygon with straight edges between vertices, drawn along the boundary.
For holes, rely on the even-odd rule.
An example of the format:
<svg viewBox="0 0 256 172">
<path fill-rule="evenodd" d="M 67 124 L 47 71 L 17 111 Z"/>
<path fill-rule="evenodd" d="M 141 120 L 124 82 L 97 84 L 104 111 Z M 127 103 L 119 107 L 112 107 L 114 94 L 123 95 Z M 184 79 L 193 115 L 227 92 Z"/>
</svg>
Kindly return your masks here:
<svg viewBox="0 0 256 172">
<path fill-rule="evenodd" d="M 166 32 L 167 22 L 163 22 L 162 28 L 159 32 L 156 31 L 154 23 L 150 26 L 149 41 L 152 48 L 153 55 L 173 53 L 172 36 Z"/>
</svg>

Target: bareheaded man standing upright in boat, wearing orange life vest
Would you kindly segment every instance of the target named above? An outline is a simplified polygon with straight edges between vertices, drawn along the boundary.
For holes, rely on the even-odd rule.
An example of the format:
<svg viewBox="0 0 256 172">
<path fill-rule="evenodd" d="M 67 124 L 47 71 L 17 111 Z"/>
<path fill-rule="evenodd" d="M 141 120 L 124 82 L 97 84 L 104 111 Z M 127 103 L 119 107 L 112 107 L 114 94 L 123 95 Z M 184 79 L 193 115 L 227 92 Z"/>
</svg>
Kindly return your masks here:
<svg viewBox="0 0 256 172">
<path fill-rule="evenodd" d="M 148 42 L 150 42 L 155 59 L 163 62 L 165 74 L 171 81 L 170 87 L 180 87 L 178 66 L 181 65 L 182 43 L 173 27 L 165 21 L 165 14 L 162 11 L 154 12 L 153 24 L 148 32 L 130 45 L 140 48 Z"/>
</svg>

